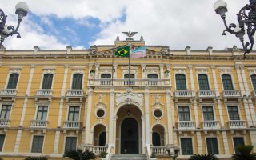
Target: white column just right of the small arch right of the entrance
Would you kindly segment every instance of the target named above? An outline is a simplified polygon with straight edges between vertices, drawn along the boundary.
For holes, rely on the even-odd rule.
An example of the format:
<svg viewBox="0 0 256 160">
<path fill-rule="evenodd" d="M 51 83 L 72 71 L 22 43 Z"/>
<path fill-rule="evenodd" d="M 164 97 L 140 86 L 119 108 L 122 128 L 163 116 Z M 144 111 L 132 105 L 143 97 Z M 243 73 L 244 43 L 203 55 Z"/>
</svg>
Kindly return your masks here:
<svg viewBox="0 0 256 160">
<path fill-rule="evenodd" d="M 171 95 L 170 95 L 170 90 L 166 90 L 166 111 L 167 111 L 167 136 L 168 141 L 166 141 L 166 144 L 174 144 L 174 138 L 173 138 L 173 119 L 172 119 L 172 114 L 174 117 L 174 113 L 171 112 Z"/>
</svg>

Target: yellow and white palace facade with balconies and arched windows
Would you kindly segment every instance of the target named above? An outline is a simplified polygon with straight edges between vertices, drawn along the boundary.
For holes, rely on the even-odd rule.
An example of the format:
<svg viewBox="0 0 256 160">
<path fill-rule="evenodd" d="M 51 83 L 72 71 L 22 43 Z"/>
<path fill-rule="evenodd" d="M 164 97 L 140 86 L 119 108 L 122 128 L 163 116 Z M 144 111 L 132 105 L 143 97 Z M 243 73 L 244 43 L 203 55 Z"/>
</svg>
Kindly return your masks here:
<svg viewBox="0 0 256 160">
<path fill-rule="evenodd" d="M 228 159 L 256 146 L 256 52 L 146 46 L 146 58 L 114 56 L 128 44 L 145 46 L 0 50 L 0 156 L 89 147 L 167 159 L 166 146 L 179 146 L 178 159 Z"/>
</svg>

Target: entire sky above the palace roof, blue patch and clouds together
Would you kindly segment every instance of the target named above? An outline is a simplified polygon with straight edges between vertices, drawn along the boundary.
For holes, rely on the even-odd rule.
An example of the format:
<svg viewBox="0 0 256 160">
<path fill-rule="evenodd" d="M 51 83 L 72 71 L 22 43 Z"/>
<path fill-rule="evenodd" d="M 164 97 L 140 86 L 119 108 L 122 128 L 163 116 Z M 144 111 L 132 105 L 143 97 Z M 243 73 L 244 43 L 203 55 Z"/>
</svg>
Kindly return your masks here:
<svg viewBox="0 0 256 160">
<path fill-rule="evenodd" d="M 19 0 L 0 0 L 8 15 L 7 24 L 16 25 L 14 6 Z M 88 48 L 112 45 L 122 31 L 137 31 L 146 45 L 165 45 L 170 49 L 223 50 L 241 47 L 238 38 L 222 36 L 224 25 L 213 10 L 215 0 L 23 0 L 30 12 L 22 21 L 22 38 L 6 38 L 7 50 Z M 227 21 L 236 22 L 236 13 L 248 0 L 226 0 Z"/>
</svg>

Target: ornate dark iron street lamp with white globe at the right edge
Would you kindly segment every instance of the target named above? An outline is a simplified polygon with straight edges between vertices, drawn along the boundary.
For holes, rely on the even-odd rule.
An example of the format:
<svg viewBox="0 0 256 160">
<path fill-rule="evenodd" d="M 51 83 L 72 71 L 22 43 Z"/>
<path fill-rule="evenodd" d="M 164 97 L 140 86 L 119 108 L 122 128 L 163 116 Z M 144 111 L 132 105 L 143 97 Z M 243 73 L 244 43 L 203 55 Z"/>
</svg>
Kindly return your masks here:
<svg viewBox="0 0 256 160">
<path fill-rule="evenodd" d="M 224 22 L 226 30 L 222 35 L 226 35 L 226 32 L 235 34 L 237 38 L 242 42 L 242 48 L 244 50 L 244 58 L 246 54 L 249 54 L 254 46 L 254 34 L 256 27 L 256 0 L 250 0 L 250 4 L 242 7 L 237 14 L 238 24 L 231 23 L 229 26 L 226 24 L 226 12 L 227 4 L 223 0 L 218 0 L 214 4 L 214 10 L 219 14 Z M 245 29 L 246 28 L 246 29 Z M 244 35 L 247 33 L 249 42 L 244 42 Z"/>
</svg>

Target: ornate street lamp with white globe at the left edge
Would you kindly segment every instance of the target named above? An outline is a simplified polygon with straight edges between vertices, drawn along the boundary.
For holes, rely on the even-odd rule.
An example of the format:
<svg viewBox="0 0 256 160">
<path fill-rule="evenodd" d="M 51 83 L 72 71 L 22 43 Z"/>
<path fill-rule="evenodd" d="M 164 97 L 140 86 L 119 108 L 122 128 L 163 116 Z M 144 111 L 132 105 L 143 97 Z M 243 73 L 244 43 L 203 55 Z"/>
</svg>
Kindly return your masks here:
<svg viewBox="0 0 256 160">
<path fill-rule="evenodd" d="M 29 11 L 29 7 L 26 5 L 26 2 L 19 2 L 16 6 L 16 12 L 15 14 L 18 14 L 18 24 L 16 26 L 16 29 L 14 26 L 8 26 L 6 25 L 6 14 L 0 9 L 0 48 L 2 47 L 2 42 L 5 40 L 5 38 L 12 36 L 14 34 L 18 34 L 17 38 L 21 38 L 21 35 L 18 33 L 18 28 L 20 23 L 22 22 L 22 18 L 26 17 L 26 14 Z"/>
</svg>

